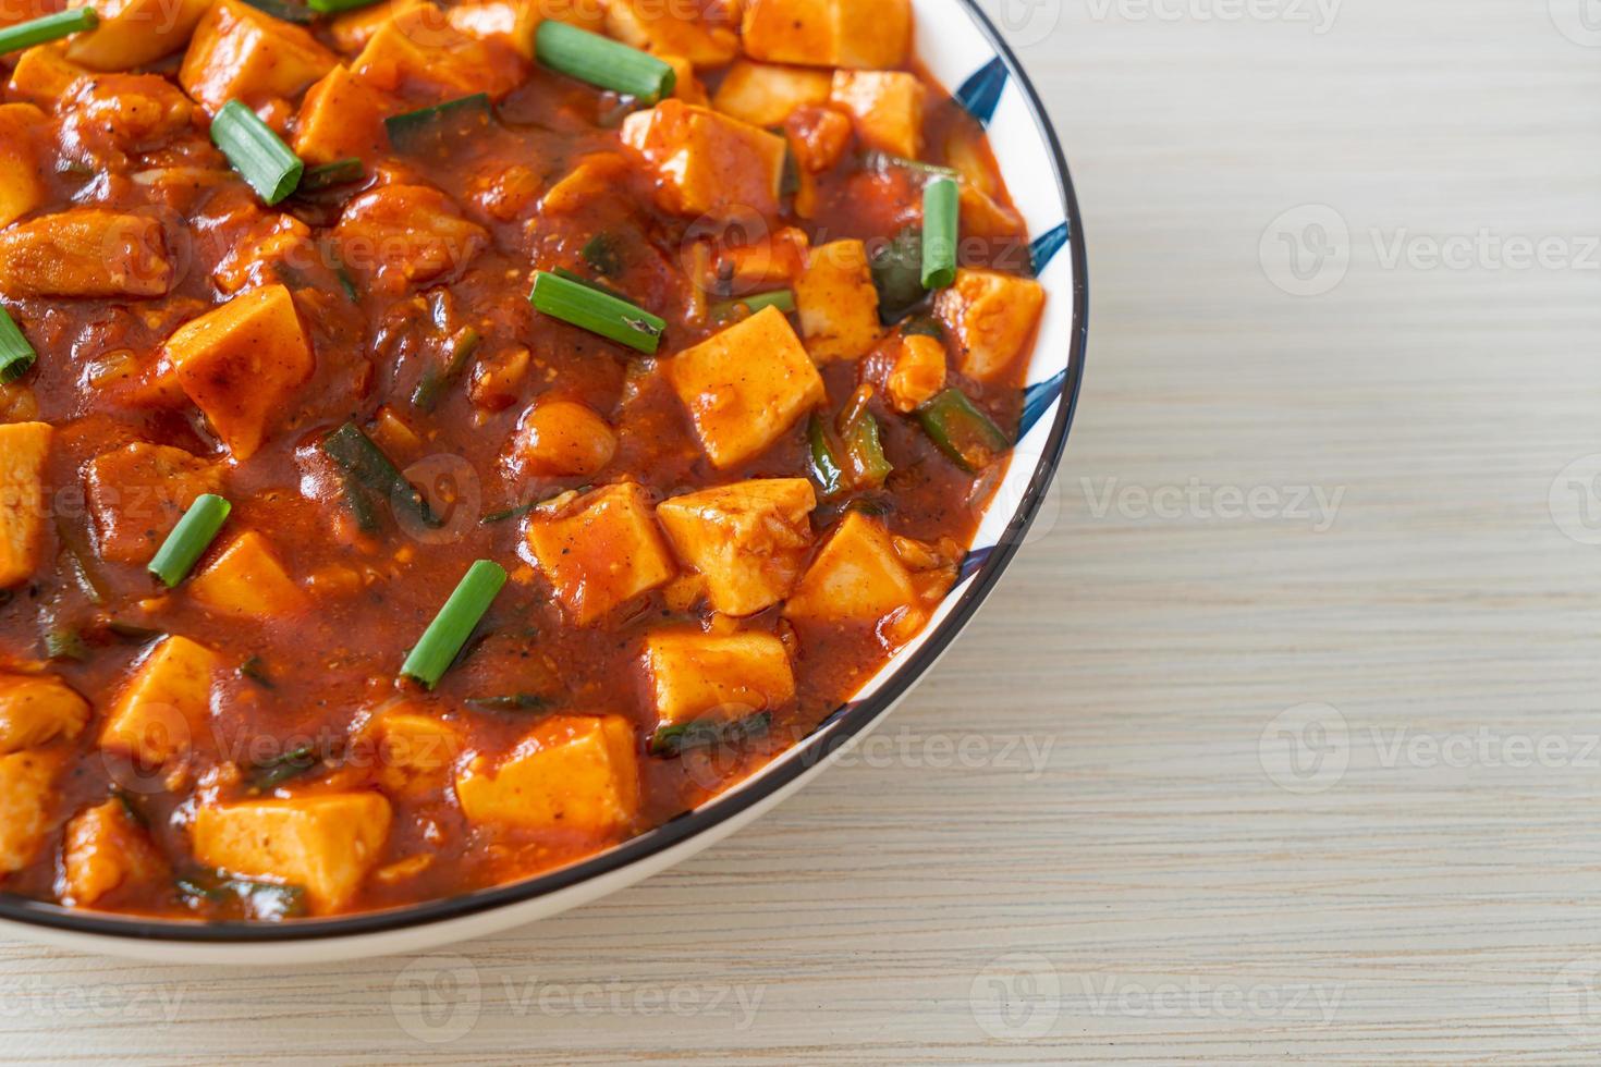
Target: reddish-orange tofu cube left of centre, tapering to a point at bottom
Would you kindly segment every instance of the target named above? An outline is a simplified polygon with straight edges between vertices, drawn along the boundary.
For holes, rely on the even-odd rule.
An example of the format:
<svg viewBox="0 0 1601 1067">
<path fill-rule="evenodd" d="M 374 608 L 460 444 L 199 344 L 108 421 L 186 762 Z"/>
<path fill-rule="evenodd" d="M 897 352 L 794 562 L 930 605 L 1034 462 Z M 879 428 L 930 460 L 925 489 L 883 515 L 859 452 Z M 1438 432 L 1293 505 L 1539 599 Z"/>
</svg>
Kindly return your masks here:
<svg viewBox="0 0 1601 1067">
<path fill-rule="evenodd" d="M 311 342 L 282 285 L 251 290 L 184 323 L 167 339 L 165 355 L 178 386 L 239 462 L 261 448 L 312 371 Z"/>
</svg>

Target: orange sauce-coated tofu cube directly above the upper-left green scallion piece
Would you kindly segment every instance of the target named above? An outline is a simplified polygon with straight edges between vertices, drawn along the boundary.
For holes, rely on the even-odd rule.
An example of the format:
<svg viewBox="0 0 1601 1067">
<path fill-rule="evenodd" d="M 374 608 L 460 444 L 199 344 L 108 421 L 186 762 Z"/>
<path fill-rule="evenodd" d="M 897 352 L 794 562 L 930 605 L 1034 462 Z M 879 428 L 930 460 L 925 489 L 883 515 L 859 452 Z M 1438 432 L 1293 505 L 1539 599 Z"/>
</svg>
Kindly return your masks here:
<svg viewBox="0 0 1601 1067">
<path fill-rule="evenodd" d="M 243 0 L 216 0 L 194 30 L 178 83 L 215 114 L 231 99 L 261 107 L 299 96 L 336 62 L 299 26 Z"/>
</svg>

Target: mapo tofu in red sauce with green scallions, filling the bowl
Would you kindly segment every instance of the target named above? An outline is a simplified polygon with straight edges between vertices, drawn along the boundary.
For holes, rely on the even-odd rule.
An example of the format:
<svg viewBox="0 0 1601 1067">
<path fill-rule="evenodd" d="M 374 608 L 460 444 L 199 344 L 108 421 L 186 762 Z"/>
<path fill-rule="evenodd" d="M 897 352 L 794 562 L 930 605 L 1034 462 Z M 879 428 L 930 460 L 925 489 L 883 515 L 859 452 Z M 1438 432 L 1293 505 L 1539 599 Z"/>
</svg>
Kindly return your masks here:
<svg viewBox="0 0 1601 1067">
<path fill-rule="evenodd" d="M 908 0 L 8 18 L 0 891 L 551 870 L 956 584 L 1044 291 Z"/>
</svg>

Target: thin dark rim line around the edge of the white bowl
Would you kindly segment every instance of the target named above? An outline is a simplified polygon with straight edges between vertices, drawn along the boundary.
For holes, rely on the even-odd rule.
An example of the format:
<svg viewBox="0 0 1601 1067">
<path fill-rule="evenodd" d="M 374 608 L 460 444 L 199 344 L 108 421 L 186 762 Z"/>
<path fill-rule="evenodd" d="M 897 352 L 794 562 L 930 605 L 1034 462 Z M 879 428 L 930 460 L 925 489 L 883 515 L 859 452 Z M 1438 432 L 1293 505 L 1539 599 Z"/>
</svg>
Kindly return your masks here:
<svg viewBox="0 0 1601 1067">
<path fill-rule="evenodd" d="M 1028 104 L 1029 118 L 1039 130 L 1039 136 L 1050 150 L 1052 170 L 1057 179 L 1057 192 L 1061 197 L 1061 208 L 1068 226 L 1068 250 L 1073 262 L 1073 325 L 1068 346 L 1066 378 L 1063 381 L 1061 402 L 1057 418 L 1045 437 L 1039 462 L 1029 475 L 1015 514 L 1005 526 L 994 550 L 983 561 L 973 576 L 972 584 L 951 613 L 933 629 L 922 645 L 906 659 L 905 664 L 876 693 L 857 702 L 845 704 L 844 709 L 818 723 L 810 734 L 796 742 L 783 758 L 768 765 L 752 776 L 748 785 L 736 787 L 728 793 L 716 797 L 693 811 L 669 819 L 668 822 L 645 830 L 620 845 L 581 859 L 567 867 L 559 867 L 543 875 L 524 878 L 520 881 L 475 889 L 459 896 L 423 901 L 381 912 L 344 915 L 335 918 L 307 918 L 293 923 L 247 923 L 247 921 L 194 921 L 194 920 L 160 920 L 134 918 L 101 912 L 78 912 L 74 909 L 35 901 L 29 897 L 13 897 L 0 893 L 0 923 L 21 923 L 74 934 L 90 934 L 96 937 L 117 937 L 126 941 L 165 941 L 176 944 L 280 944 L 327 941 L 335 937 L 355 937 L 362 934 L 386 934 L 403 929 L 416 929 L 447 923 L 451 920 L 493 912 L 498 909 L 527 904 L 538 897 L 549 896 L 560 889 L 568 889 L 584 881 L 621 872 L 676 845 L 688 841 L 762 803 L 773 793 L 804 776 L 815 765 L 828 760 L 829 755 L 847 745 L 858 734 L 876 725 L 906 693 L 922 680 L 924 673 L 967 627 L 980 605 L 994 589 L 1002 571 L 1017 555 L 1018 547 L 1039 514 L 1039 507 L 1055 478 L 1057 466 L 1061 461 L 1073 426 L 1073 414 L 1077 408 L 1079 386 L 1084 381 L 1084 357 L 1089 344 L 1089 259 L 1084 246 L 1084 226 L 1079 216 L 1079 203 L 1068 171 L 1068 160 L 1061 152 L 1061 142 L 1050 123 L 1039 93 L 1029 82 L 1028 74 L 1017 54 L 1001 37 L 994 22 L 978 6 L 977 0 L 956 0 L 978 26 L 980 32 L 994 48 L 996 56 L 1005 66 L 1007 75 L 1013 78 Z"/>
</svg>

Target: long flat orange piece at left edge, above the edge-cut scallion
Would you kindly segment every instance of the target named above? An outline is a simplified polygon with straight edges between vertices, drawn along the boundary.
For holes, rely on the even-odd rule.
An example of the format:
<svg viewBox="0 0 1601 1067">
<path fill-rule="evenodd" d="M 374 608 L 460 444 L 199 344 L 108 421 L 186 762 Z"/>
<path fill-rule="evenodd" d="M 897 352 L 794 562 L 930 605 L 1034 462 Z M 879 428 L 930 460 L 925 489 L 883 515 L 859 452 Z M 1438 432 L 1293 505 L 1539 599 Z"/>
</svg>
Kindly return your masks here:
<svg viewBox="0 0 1601 1067">
<path fill-rule="evenodd" d="M 162 296 L 171 283 L 162 224 L 146 214 L 72 208 L 0 232 L 6 296 Z"/>
</svg>

